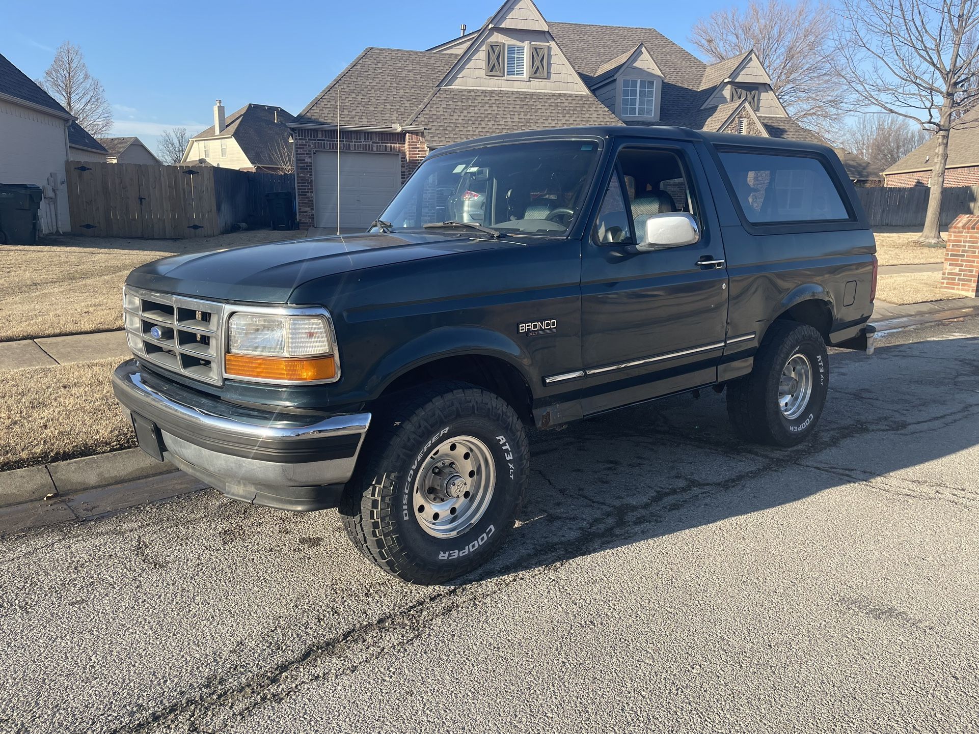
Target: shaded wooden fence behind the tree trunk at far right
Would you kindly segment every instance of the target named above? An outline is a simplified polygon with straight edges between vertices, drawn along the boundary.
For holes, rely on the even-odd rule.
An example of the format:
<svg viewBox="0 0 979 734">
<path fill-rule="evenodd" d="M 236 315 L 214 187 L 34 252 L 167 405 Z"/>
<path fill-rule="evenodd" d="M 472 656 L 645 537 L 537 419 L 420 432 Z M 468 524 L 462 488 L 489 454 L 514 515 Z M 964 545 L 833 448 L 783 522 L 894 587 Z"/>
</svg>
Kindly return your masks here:
<svg viewBox="0 0 979 734">
<path fill-rule="evenodd" d="M 857 197 L 872 227 L 920 227 L 928 209 L 928 193 L 927 186 L 857 189 Z M 942 192 L 943 227 L 952 224 L 959 214 L 977 213 L 979 186 L 960 186 Z"/>
</svg>

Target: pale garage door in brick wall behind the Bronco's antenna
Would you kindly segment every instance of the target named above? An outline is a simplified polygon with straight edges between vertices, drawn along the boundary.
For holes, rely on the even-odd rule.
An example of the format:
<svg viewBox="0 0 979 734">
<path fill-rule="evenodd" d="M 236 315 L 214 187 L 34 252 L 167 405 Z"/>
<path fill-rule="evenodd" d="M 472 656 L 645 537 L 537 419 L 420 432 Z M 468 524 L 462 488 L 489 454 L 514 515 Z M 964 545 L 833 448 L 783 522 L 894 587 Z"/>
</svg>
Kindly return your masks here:
<svg viewBox="0 0 979 734">
<path fill-rule="evenodd" d="M 317 227 L 337 226 L 337 154 L 312 159 Z M 396 153 L 340 154 L 340 226 L 366 229 L 401 188 Z"/>
</svg>

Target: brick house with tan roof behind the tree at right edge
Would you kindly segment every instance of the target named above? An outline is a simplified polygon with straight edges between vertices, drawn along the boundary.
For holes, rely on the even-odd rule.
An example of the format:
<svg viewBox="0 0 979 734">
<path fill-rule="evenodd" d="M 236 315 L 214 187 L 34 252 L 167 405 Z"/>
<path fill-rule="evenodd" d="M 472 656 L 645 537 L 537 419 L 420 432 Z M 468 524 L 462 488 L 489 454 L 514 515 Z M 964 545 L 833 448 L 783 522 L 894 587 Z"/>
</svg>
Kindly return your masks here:
<svg viewBox="0 0 979 734">
<path fill-rule="evenodd" d="M 945 164 L 945 186 L 979 186 L 979 111 L 970 116 L 975 126 L 949 133 L 949 158 Z M 932 136 L 884 171 L 884 186 L 909 188 L 928 186 L 935 165 L 938 140 Z"/>
</svg>

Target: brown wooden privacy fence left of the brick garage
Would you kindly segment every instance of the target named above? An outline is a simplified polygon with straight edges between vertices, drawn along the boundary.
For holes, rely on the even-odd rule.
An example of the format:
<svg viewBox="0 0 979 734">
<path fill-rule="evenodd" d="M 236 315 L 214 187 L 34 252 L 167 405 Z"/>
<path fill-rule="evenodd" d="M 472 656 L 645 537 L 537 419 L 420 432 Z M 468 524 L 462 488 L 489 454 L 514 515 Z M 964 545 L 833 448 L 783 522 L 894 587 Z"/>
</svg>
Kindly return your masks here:
<svg viewBox="0 0 979 734">
<path fill-rule="evenodd" d="M 210 165 L 69 161 L 71 234 L 182 239 L 267 226 L 265 194 L 294 191 L 292 174 Z"/>
</svg>

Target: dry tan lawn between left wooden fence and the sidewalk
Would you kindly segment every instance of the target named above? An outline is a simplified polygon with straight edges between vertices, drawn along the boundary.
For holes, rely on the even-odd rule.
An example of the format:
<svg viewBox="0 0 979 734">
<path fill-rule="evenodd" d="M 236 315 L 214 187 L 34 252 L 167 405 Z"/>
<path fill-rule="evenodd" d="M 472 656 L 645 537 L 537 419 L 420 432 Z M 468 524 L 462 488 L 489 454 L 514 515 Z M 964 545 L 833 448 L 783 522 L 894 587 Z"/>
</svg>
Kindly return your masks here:
<svg viewBox="0 0 979 734">
<path fill-rule="evenodd" d="M 122 284 L 145 262 L 183 252 L 303 237 L 255 230 L 193 240 L 47 237 L 0 246 L 0 342 L 122 328 Z"/>
</svg>

